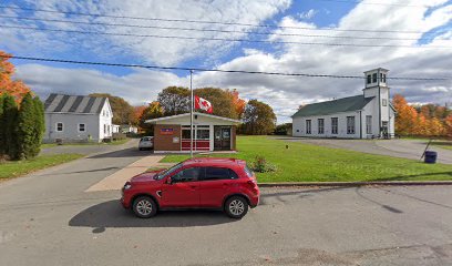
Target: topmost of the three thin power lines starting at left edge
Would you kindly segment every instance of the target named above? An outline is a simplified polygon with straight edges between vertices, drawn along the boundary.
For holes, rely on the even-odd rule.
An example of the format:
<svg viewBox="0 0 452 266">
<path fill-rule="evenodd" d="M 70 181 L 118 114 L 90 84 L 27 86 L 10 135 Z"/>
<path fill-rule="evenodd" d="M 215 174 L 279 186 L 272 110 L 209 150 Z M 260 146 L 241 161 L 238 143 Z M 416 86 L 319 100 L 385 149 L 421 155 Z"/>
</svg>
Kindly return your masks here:
<svg viewBox="0 0 452 266">
<path fill-rule="evenodd" d="M 266 28 L 266 29 L 322 30 L 322 31 L 345 31 L 345 32 L 356 31 L 356 32 L 423 33 L 421 31 L 370 30 L 370 29 L 336 29 L 336 28 L 312 29 L 312 28 L 309 28 L 309 27 L 297 27 L 297 25 L 275 25 L 275 24 L 254 24 L 254 23 L 239 23 L 239 22 L 227 22 L 227 21 L 209 21 L 209 20 L 145 18 L 145 17 L 131 17 L 131 16 L 114 16 L 114 14 L 101 14 L 101 13 L 59 11 L 59 10 L 50 10 L 50 9 L 34 9 L 34 8 L 11 7 L 11 6 L 0 6 L 0 9 L 24 10 L 24 11 L 34 11 L 34 12 L 45 12 L 45 13 L 60 13 L 60 14 L 69 14 L 69 16 L 94 17 L 94 18 L 113 18 L 113 19 L 184 22 L 184 23 L 202 23 L 202 24 L 218 24 L 218 25 L 243 25 L 243 27 L 256 27 L 256 28 Z"/>
</svg>

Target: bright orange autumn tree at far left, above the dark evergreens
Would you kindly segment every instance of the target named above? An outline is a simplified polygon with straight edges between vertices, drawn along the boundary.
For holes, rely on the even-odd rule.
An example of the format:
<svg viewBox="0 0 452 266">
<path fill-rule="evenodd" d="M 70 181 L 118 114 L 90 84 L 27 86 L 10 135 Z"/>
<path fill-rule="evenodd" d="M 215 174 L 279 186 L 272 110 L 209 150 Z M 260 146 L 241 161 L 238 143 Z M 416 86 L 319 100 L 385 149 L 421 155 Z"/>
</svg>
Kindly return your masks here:
<svg viewBox="0 0 452 266">
<path fill-rule="evenodd" d="M 16 69 L 9 62 L 11 54 L 0 51 L 0 95 L 9 93 L 17 103 L 20 103 L 22 98 L 30 92 L 30 89 L 22 81 L 12 79 Z"/>
</svg>

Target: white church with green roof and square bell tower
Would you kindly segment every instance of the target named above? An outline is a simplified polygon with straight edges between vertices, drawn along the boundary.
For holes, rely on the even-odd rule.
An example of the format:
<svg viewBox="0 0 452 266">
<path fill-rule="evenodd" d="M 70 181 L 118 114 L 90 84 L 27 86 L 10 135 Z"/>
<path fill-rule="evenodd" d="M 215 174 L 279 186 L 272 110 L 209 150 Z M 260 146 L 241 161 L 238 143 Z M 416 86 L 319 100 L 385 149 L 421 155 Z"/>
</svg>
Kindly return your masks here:
<svg viewBox="0 0 452 266">
<path fill-rule="evenodd" d="M 292 135 L 371 139 L 394 135 L 396 110 L 390 102 L 388 70 L 364 72 L 361 95 L 307 104 L 292 115 Z"/>
</svg>

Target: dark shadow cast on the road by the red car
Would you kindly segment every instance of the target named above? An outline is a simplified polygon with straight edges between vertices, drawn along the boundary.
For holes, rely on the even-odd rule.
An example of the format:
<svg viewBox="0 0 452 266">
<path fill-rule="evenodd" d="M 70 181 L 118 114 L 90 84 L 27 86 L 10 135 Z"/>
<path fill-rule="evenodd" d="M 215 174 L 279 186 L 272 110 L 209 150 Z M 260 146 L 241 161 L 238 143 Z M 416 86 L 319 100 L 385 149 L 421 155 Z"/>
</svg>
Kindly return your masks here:
<svg viewBox="0 0 452 266">
<path fill-rule="evenodd" d="M 232 223 L 236 219 L 215 211 L 160 212 L 148 219 L 137 218 L 124 209 L 119 201 L 109 201 L 91 206 L 69 221 L 70 226 L 92 227 L 93 233 L 102 233 L 109 227 L 191 227 Z"/>
</svg>

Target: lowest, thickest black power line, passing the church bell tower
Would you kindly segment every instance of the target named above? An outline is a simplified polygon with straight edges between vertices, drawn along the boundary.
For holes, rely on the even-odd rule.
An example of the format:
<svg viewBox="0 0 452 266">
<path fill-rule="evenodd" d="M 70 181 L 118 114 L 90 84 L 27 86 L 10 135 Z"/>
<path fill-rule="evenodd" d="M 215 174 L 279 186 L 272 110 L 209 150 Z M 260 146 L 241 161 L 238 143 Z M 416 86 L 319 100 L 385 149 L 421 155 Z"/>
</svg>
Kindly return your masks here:
<svg viewBox="0 0 452 266">
<path fill-rule="evenodd" d="M 76 61 L 76 60 L 49 59 L 49 58 L 33 58 L 33 57 L 19 57 L 19 55 L 0 55 L 0 57 L 1 57 L 1 58 L 18 59 L 18 60 L 56 62 L 56 63 L 71 63 L 71 64 L 105 65 L 105 66 L 120 66 L 120 68 L 141 68 L 141 69 L 158 69 L 158 70 L 184 70 L 184 71 L 197 71 L 197 72 L 222 72 L 222 73 L 263 74 L 263 75 L 280 75 L 280 76 L 305 76 L 305 78 L 359 79 L 359 80 L 366 79 L 364 76 L 359 76 L 359 75 L 284 73 L 284 72 L 267 72 L 267 71 L 204 69 L 204 68 L 188 68 L 188 66 L 160 66 L 160 65 L 126 64 L 126 63 L 106 63 L 106 62 L 94 62 L 94 61 Z M 452 78 L 419 78 L 419 76 L 418 76 L 418 78 L 411 78 L 411 76 L 388 76 L 387 79 L 388 79 L 388 80 L 407 80 L 407 81 L 448 81 L 448 80 L 452 80 Z"/>
</svg>

